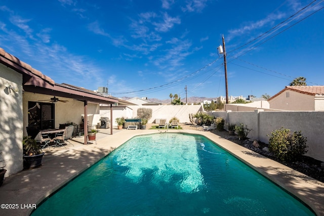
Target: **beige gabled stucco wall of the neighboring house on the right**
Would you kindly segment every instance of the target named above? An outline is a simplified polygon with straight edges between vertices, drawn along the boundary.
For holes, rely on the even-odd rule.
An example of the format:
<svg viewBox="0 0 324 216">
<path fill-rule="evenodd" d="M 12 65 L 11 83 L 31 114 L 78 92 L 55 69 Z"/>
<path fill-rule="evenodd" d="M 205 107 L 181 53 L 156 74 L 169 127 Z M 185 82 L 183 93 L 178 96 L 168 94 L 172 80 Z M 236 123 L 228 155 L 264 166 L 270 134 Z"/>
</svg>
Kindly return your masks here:
<svg viewBox="0 0 324 216">
<path fill-rule="evenodd" d="M 286 97 L 286 93 L 289 97 Z M 269 101 L 270 109 L 314 111 L 314 96 L 286 90 Z"/>
</svg>

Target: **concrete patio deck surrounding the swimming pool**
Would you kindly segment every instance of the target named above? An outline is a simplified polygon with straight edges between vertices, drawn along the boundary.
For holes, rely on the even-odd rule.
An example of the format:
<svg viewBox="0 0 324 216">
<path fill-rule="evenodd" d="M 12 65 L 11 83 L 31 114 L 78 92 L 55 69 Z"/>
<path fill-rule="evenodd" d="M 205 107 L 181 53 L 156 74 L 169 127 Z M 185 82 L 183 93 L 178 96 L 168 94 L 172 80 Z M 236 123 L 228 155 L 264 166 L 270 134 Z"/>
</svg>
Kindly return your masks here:
<svg viewBox="0 0 324 216">
<path fill-rule="evenodd" d="M 0 203 L 18 204 L 15 209 L 0 208 L 0 215 L 29 215 L 32 204 L 39 204 L 71 179 L 137 135 L 165 132 L 160 130 L 100 129 L 97 145 L 83 145 L 84 138 L 73 138 L 73 145 L 46 149 L 43 165 L 6 178 L 0 187 Z M 317 215 L 324 215 L 324 184 L 300 172 L 236 145 L 210 132 L 169 130 L 169 133 L 203 135 L 252 166 L 264 176 L 309 205 Z M 30 205 L 28 205 L 30 204 Z"/>
</svg>

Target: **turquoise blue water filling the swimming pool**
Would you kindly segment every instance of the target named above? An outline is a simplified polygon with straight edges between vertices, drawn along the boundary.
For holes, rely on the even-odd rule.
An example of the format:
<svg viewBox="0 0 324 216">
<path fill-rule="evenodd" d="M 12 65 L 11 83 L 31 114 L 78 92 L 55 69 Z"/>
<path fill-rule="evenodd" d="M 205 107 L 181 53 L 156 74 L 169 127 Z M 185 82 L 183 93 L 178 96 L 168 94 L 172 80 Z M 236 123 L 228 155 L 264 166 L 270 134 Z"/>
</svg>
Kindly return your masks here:
<svg viewBox="0 0 324 216">
<path fill-rule="evenodd" d="M 193 135 L 135 137 L 32 215 L 314 215 L 291 195 Z"/>
</svg>

